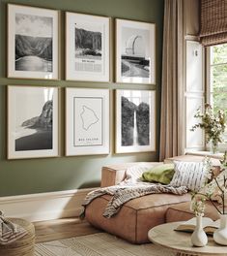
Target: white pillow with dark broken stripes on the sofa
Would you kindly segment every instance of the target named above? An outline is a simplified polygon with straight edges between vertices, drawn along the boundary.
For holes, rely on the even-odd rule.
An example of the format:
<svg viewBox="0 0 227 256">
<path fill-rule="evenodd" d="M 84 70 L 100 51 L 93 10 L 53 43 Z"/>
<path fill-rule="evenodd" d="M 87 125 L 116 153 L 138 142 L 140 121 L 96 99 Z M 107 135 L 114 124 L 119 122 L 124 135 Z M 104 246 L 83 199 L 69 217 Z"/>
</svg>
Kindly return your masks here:
<svg viewBox="0 0 227 256">
<path fill-rule="evenodd" d="M 189 190 L 199 191 L 204 185 L 207 170 L 203 162 L 174 162 L 175 174 L 171 186 L 186 186 Z"/>
</svg>

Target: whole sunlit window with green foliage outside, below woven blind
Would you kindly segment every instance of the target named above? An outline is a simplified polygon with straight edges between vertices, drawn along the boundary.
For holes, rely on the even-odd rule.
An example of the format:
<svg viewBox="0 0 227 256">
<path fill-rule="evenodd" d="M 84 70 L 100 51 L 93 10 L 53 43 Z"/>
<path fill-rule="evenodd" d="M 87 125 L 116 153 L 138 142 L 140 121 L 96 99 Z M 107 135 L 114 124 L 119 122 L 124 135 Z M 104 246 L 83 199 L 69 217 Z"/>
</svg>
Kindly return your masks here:
<svg viewBox="0 0 227 256">
<path fill-rule="evenodd" d="M 208 97 L 214 111 L 223 110 L 227 116 L 227 44 L 210 48 Z M 225 143 L 222 149 L 227 149 L 227 129 L 224 134 Z"/>
</svg>

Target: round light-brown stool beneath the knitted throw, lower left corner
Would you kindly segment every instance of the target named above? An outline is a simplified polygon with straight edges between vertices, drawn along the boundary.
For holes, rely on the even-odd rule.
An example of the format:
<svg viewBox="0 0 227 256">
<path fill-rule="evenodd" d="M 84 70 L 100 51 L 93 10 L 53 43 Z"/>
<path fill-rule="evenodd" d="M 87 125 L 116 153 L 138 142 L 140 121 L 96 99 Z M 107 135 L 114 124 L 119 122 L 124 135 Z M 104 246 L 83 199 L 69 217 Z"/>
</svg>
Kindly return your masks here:
<svg viewBox="0 0 227 256">
<path fill-rule="evenodd" d="M 1 256 L 33 256 L 35 246 L 35 228 L 32 223 L 24 219 L 11 218 L 13 223 L 23 227 L 28 233 L 10 244 L 0 244 Z"/>
</svg>

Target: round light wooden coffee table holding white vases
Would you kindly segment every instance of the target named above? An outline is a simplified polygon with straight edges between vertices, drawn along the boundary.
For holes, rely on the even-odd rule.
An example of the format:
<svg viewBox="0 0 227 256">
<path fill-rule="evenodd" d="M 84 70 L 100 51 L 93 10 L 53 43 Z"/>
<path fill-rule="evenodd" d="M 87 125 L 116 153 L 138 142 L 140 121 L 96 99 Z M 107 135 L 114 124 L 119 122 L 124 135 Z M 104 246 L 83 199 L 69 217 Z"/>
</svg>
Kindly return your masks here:
<svg viewBox="0 0 227 256">
<path fill-rule="evenodd" d="M 157 245 L 176 251 L 177 255 L 222 255 L 227 256 L 227 246 L 221 246 L 209 236 L 205 247 L 195 247 L 191 244 L 190 233 L 174 231 L 181 222 L 158 225 L 148 232 L 148 238 Z"/>
</svg>

